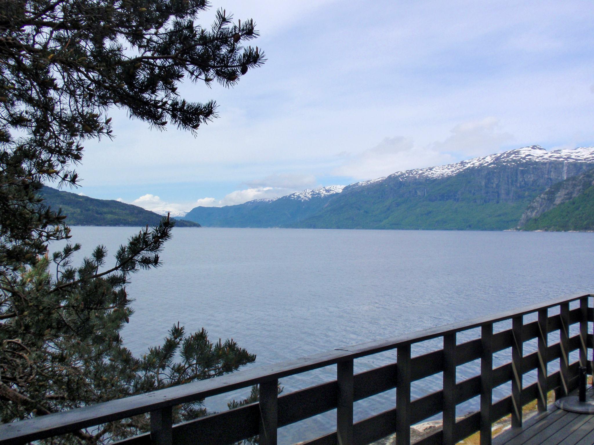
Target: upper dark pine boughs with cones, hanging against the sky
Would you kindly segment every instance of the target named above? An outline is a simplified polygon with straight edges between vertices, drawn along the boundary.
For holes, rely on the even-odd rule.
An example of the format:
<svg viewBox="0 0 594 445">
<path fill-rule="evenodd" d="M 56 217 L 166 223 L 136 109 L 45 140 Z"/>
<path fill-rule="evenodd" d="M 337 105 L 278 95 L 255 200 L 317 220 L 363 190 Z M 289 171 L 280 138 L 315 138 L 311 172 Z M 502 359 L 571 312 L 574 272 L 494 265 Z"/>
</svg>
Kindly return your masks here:
<svg viewBox="0 0 594 445">
<path fill-rule="evenodd" d="M 165 128 L 195 132 L 213 101 L 186 101 L 180 81 L 235 84 L 263 63 L 251 20 L 217 12 L 194 23 L 205 0 L 4 0 L 0 5 L 0 262 L 33 263 L 64 238 L 62 215 L 39 209 L 43 182 L 77 183 L 84 139 L 111 136 L 111 106 Z M 7 216 L 10 215 L 10 218 Z M 19 240 L 13 243 L 12 240 Z"/>
</svg>

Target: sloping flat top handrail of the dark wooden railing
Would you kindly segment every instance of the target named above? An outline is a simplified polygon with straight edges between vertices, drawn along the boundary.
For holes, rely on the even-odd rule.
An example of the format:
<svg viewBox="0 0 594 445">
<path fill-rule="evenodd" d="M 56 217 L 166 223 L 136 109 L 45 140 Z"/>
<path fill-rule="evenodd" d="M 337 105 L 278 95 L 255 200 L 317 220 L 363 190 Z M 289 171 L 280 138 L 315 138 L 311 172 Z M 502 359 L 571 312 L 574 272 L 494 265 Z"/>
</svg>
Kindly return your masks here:
<svg viewBox="0 0 594 445">
<path fill-rule="evenodd" d="M 131 396 L 124 399 L 110 400 L 97 405 L 72 409 L 71 411 L 57 412 L 41 417 L 35 417 L 18 422 L 0 425 L 0 445 L 18 441 L 40 440 L 42 438 L 71 433 L 81 428 L 115 421 L 133 415 L 143 414 L 157 409 L 175 406 L 181 403 L 192 402 L 198 399 L 230 392 L 252 386 L 261 382 L 299 374 L 316 368 L 336 364 L 339 361 L 351 360 L 377 354 L 378 352 L 395 349 L 399 345 L 413 344 L 441 337 L 447 333 L 461 332 L 480 326 L 508 320 L 513 317 L 536 312 L 558 306 L 561 303 L 570 303 L 584 297 L 594 297 L 594 294 L 580 293 L 565 297 L 558 297 L 538 304 L 508 310 L 491 316 L 478 317 L 464 322 L 451 323 L 437 328 L 419 330 L 387 339 L 365 342 L 347 348 L 334 349 L 270 365 L 249 368 L 214 379 L 201 380 L 174 386 L 154 392 Z"/>
</svg>

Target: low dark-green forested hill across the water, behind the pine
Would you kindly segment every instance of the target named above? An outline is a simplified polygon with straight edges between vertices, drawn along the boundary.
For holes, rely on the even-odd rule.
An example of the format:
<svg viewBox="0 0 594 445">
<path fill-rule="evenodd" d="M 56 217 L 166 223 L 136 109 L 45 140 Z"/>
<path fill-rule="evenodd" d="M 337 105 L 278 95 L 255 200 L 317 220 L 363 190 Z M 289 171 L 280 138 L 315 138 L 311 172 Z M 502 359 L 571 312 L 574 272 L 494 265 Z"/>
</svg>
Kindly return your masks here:
<svg viewBox="0 0 594 445">
<path fill-rule="evenodd" d="M 52 209 L 62 209 L 67 215 L 68 225 L 154 225 L 161 216 L 141 207 L 109 199 L 95 199 L 76 193 L 43 187 L 41 192 L 44 204 Z M 177 220 L 176 227 L 200 227 L 192 221 Z"/>
</svg>

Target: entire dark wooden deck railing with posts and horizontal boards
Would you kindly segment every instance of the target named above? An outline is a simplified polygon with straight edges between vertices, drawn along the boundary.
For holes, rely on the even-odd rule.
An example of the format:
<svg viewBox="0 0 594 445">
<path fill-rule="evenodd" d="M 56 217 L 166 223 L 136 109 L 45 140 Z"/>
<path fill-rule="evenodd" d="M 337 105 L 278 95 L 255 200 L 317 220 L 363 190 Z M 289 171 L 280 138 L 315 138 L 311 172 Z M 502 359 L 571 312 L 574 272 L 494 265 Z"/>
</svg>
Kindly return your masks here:
<svg viewBox="0 0 594 445">
<path fill-rule="evenodd" d="M 337 431 L 308 441 L 309 445 L 369 444 L 396 432 L 398 445 L 410 443 L 410 425 L 442 413 L 443 428 L 417 442 L 454 444 L 477 431 L 481 444 L 491 443 L 492 423 L 511 414 L 514 427 L 522 425 L 522 406 L 538 400 L 538 409 L 547 405 L 547 394 L 555 390 L 566 395 L 577 386 L 577 368 L 592 366 L 587 348 L 593 338 L 588 321 L 594 320 L 589 298 L 579 294 L 542 304 L 507 311 L 494 316 L 440 328 L 422 330 L 382 341 L 317 354 L 276 365 L 239 371 L 211 380 L 188 383 L 144 395 L 112 400 L 72 411 L 50 414 L 0 425 L 0 445 L 71 433 L 106 422 L 150 413 L 151 432 L 120 441 L 122 445 L 225 445 L 260 435 L 261 445 L 277 443 L 277 428 L 336 409 Z M 574 303 L 579 302 L 579 303 Z M 570 303 L 577 305 L 570 310 Z M 549 315 L 549 309 L 559 308 Z M 538 319 L 524 323 L 533 314 Z M 511 329 L 494 332 L 494 323 L 511 320 Z M 570 326 L 579 323 L 579 334 L 571 336 Z M 480 337 L 457 343 L 465 331 L 480 329 Z M 559 331 L 559 341 L 548 344 L 549 333 Z M 443 338 L 443 348 L 416 357 L 411 346 L 429 339 Z M 523 354 L 526 341 L 536 339 L 538 350 Z M 493 354 L 511 348 L 511 361 L 493 368 Z M 353 360 L 396 349 L 397 361 L 353 374 Z M 579 360 L 570 362 L 570 352 L 579 349 Z M 456 381 L 457 367 L 481 360 L 481 373 Z M 548 374 L 548 363 L 559 359 L 558 371 Z M 279 379 L 328 365 L 337 365 L 333 382 L 307 387 L 279 396 Z M 536 370 L 538 380 L 523 385 L 523 375 Z M 443 373 L 443 389 L 411 400 L 411 382 Z M 436 379 L 438 377 L 435 377 Z M 493 389 L 511 381 L 511 394 L 493 402 Z M 232 390 L 260 385 L 260 402 L 172 425 L 172 408 Z M 395 406 L 353 424 L 353 403 L 396 388 Z M 480 396 L 480 410 L 456 421 L 456 405 Z"/>
</svg>

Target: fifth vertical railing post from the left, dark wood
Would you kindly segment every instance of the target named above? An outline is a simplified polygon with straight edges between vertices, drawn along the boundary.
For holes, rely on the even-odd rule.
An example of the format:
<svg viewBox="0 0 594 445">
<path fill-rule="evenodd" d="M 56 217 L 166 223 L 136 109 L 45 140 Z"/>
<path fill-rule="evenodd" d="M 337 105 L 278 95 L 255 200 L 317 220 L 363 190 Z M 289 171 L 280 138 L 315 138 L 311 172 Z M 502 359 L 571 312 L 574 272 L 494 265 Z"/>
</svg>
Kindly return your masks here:
<svg viewBox="0 0 594 445">
<path fill-rule="evenodd" d="M 456 332 L 444 335 L 442 444 L 456 443 Z"/>
</svg>

